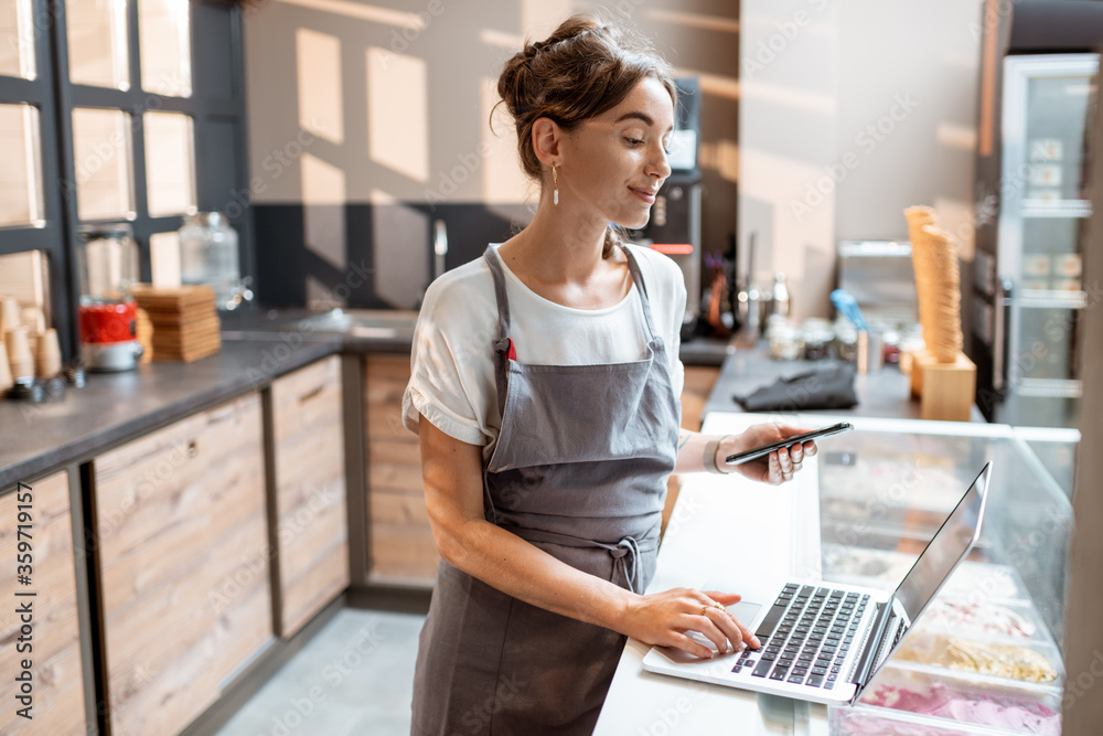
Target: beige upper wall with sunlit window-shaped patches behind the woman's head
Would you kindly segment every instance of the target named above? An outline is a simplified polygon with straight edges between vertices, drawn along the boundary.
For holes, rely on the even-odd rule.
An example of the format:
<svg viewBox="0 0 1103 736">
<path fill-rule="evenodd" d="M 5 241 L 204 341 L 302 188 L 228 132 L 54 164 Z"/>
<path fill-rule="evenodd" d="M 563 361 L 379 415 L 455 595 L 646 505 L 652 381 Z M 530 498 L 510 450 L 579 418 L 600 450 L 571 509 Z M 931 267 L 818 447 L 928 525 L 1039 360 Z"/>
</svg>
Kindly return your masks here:
<svg viewBox="0 0 1103 736">
<path fill-rule="evenodd" d="M 542 38 L 597 4 L 268 0 L 250 8 L 254 200 L 524 202 L 533 189 L 520 173 L 511 128 L 496 126 L 495 136 L 488 125 L 497 74 L 525 35 Z M 706 247 L 726 246 L 735 228 L 738 4 L 603 4 L 654 38 L 679 72 L 702 75 Z"/>
</svg>

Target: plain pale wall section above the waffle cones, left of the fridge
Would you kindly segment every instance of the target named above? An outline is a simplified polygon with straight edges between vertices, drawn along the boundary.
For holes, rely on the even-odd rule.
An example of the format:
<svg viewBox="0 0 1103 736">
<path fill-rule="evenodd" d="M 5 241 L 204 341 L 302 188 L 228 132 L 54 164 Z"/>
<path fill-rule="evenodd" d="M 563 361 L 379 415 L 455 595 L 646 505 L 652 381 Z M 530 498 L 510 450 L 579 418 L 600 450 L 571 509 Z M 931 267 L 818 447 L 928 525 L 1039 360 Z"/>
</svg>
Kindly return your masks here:
<svg viewBox="0 0 1103 736">
<path fill-rule="evenodd" d="M 745 0 L 739 242 L 826 314 L 835 247 L 929 204 L 971 257 L 979 0 Z"/>
</svg>

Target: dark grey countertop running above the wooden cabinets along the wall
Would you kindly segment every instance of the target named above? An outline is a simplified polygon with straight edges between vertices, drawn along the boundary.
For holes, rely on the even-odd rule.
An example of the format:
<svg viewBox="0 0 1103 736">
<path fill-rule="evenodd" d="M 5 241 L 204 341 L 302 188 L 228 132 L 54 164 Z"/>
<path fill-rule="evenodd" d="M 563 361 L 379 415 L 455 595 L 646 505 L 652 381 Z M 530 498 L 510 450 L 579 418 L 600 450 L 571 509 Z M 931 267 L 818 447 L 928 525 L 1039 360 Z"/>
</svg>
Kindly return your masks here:
<svg viewBox="0 0 1103 736">
<path fill-rule="evenodd" d="M 355 337 L 303 326 L 307 309 L 253 308 L 222 316 L 222 350 L 193 363 L 89 373 L 83 388 L 44 404 L 0 401 L 0 489 L 84 461 L 139 435 L 264 388 L 279 375 L 340 352 L 408 352 L 410 335 Z M 719 365 L 725 343 L 683 345 L 687 364 Z"/>
</svg>

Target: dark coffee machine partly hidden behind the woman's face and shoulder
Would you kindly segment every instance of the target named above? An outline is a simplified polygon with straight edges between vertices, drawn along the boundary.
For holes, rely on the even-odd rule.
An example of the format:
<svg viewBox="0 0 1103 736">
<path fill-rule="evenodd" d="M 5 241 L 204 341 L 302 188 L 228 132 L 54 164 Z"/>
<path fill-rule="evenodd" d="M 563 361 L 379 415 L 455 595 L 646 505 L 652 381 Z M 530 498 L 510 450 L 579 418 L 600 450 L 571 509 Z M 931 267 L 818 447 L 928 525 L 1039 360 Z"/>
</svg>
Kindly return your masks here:
<svg viewBox="0 0 1103 736">
<path fill-rule="evenodd" d="M 629 235 L 635 243 L 670 256 L 685 277 L 686 313 L 682 337 L 693 334 L 700 316 L 700 83 L 695 77 L 675 79 L 678 87 L 677 124 L 667 160 L 671 175 L 651 209 L 651 221 Z"/>
</svg>

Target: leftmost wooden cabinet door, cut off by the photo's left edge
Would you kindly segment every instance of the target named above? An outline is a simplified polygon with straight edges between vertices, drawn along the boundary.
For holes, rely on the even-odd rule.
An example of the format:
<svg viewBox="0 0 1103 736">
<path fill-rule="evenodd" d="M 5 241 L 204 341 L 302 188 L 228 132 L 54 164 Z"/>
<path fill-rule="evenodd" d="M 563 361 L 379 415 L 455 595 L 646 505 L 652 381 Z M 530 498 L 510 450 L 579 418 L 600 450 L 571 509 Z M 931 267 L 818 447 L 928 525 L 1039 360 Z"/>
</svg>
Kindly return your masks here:
<svg viewBox="0 0 1103 736">
<path fill-rule="evenodd" d="M 0 708 L 2 734 L 83 734 L 85 733 L 84 675 L 81 661 L 81 633 L 77 623 L 76 573 L 73 557 L 73 525 L 69 516 L 68 473 L 64 470 L 31 483 L 20 491 L 30 494 L 32 527 L 30 543 L 31 584 L 17 584 L 17 523 L 21 503 L 17 493 L 0 498 L 0 559 L 9 565 L 0 575 L 0 673 L 4 678 L 4 704 Z M 26 511 L 26 509 L 24 509 Z M 24 541 L 26 538 L 24 537 Z M 34 596 L 18 594 L 34 591 Z M 24 623 L 17 607 L 31 606 L 30 641 L 20 641 Z M 25 651 L 17 651 L 26 647 Z M 28 721 L 15 711 L 23 707 L 14 696 L 23 671 L 22 660 L 31 663 L 32 708 Z"/>
</svg>

